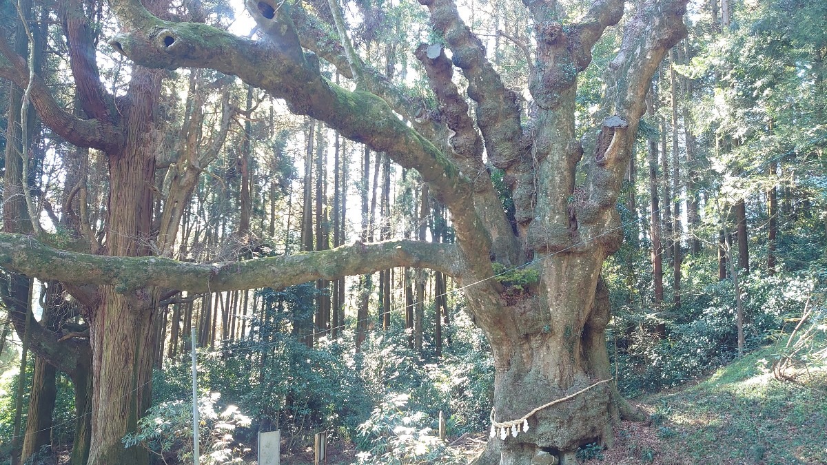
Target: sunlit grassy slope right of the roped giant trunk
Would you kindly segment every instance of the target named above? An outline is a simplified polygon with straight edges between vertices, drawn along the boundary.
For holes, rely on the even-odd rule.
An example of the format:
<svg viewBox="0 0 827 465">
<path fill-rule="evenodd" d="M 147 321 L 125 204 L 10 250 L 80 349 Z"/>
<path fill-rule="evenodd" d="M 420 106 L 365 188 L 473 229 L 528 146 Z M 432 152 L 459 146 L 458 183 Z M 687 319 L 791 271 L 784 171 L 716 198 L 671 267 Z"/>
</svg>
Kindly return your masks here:
<svg viewBox="0 0 827 465">
<path fill-rule="evenodd" d="M 703 381 L 638 399 L 650 425 L 622 424 L 615 448 L 588 463 L 825 463 L 827 361 L 796 382 L 762 372 L 773 348 Z"/>
</svg>

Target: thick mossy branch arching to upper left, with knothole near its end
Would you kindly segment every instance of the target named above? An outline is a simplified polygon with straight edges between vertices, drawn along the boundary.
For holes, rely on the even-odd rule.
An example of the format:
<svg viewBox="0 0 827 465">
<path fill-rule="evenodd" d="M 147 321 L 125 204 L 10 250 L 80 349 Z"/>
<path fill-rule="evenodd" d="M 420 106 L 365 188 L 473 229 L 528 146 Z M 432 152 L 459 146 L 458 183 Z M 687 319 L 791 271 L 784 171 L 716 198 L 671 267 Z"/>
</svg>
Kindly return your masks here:
<svg viewBox="0 0 827 465">
<path fill-rule="evenodd" d="M 270 4 L 272 3 L 272 5 Z M 431 141 L 409 127 L 382 98 L 333 84 L 319 72 L 318 58 L 304 54 L 288 2 L 248 2 L 269 40 L 251 41 L 212 26 L 167 22 L 137 0 L 112 0 L 122 22 L 110 43 L 136 64 L 151 68 L 210 68 L 284 98 L 290 111 L 326 122 L 351 141 L 384 151 L 404 168 L 417 170 L 451 210 L 464 255 L 490 272 L 490 237 L 474 207 L 472 181 Z M 485 257 L 482 260 L 480 257 Z"/>
</svg>

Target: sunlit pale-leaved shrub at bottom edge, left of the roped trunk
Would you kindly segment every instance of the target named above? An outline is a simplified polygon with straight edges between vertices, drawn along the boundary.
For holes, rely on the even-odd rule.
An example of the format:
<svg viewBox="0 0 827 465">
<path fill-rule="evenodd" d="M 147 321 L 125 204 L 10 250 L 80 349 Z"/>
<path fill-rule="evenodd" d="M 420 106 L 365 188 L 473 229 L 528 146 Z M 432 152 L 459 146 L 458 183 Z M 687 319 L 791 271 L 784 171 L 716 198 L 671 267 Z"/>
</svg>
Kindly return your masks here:
<svg viewBox="0 0 827 465">
<path fill-rule="evenodd" d="M 360 465 L 414 465 L 466 463 L 434 434 L 435 421 L 422 411 L 407 410 L 409 395 L 392 394 L 359 426 L 356 439 Z"/>
</svg>

